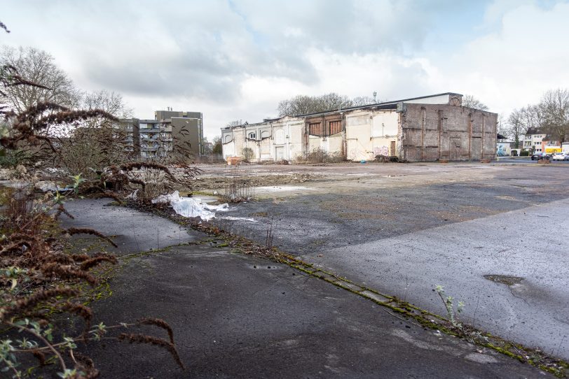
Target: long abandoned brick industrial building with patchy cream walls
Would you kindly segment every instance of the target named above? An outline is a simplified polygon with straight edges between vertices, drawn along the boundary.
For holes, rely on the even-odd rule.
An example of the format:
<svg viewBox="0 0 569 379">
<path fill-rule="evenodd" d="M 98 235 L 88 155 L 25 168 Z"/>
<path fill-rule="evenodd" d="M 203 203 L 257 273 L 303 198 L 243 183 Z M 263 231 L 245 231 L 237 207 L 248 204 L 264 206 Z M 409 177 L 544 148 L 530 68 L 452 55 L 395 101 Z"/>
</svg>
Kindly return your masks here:
<svg viewBox="0 0 569 379">
<path fill-rule="evenodd" d="M 301 159 L 317 149 L 352 161 L 494 159 L 497 119 L 446 92 L 225 127 L 221 141 L 224 158 L 249 148 L 254 162 Z"/>
</svg>

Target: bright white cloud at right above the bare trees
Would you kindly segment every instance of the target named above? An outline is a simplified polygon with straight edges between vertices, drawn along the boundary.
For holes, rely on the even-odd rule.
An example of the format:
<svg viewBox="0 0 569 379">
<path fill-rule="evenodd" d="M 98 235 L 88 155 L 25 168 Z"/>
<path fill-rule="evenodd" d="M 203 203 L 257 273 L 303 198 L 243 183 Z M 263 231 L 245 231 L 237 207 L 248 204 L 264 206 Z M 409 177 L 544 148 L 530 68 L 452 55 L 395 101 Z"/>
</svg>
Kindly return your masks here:
<svg viewBox="0 0 569 379">
<path fill-rule="evenodd" d="M 569 4 L 521 5 L 502 15 L 500 29 L 475 38 L 441 64 L 444 82 L 509 113 L 569 85 Z"/>
</svg>

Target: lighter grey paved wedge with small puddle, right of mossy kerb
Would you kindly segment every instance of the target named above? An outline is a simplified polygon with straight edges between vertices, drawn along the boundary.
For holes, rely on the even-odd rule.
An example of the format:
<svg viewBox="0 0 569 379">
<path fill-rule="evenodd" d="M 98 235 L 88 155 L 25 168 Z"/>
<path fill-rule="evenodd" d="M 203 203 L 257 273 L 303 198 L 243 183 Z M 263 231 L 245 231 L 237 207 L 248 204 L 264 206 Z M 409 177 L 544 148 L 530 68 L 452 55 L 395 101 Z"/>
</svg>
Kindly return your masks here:
<svg viewBox="0 0 569 379">
<path fill-rule="evenodd" d="M 439 314 L 443 285 L 465 322 L 569 359 L 568 212 L 563 199 L 304 257 Z"/>
</svg>

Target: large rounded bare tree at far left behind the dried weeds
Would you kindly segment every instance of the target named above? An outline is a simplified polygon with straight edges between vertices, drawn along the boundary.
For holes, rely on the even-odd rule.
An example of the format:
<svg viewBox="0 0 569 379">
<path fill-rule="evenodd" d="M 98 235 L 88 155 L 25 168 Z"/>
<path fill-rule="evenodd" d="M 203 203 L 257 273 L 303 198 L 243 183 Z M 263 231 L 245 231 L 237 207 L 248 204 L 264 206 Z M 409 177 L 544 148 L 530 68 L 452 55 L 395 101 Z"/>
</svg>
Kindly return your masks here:
<svg viewBox="0 0 569 379">
<path fill-rule="evenodd" d="M 45 102 L 78 108 L 81 93 L 53 61 L 53 57 L 43 50 L 4 46 L 0 52 L 0 64 L 13 66 L 22 78 L 41 87 L 7 87 L 0 101 L 18 112 Z"/>
</svg>

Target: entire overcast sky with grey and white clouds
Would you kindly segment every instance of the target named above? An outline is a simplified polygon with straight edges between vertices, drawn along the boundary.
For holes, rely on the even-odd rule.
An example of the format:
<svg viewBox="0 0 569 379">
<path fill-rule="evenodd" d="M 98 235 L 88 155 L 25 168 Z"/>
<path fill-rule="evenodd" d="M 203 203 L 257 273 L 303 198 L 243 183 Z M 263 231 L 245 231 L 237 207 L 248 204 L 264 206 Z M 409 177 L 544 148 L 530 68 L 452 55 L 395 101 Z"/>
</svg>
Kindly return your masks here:
<svg viewBox="0 0 569 379">
<path fill-rule="evenodd" d="M 203 112 L 205 135 L 296 94 L 473 94 L 507 115 L 569 87 L 568 1 L 0 0 L 1 45 L 50 52 L 139 118 Z"/>
</svg>

